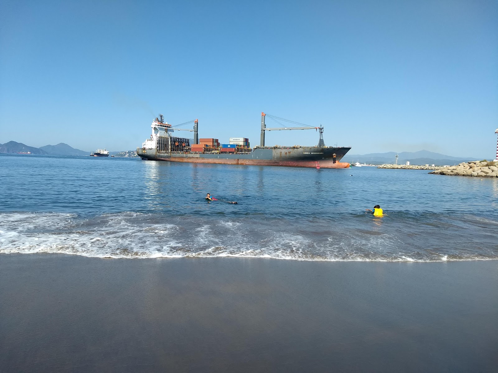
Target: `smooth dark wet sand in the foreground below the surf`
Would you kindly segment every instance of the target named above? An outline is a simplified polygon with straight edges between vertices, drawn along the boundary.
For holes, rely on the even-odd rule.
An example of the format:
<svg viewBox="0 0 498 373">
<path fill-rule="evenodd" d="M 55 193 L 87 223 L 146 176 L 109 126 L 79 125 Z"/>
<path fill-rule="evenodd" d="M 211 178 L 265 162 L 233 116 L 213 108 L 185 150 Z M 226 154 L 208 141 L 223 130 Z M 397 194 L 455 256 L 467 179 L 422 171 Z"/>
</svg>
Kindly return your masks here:
<svg viewBox="0 0 498 373">
<path fill-rule="evenodd" d="M 498 261 L 0 255 L 1 372 L 496 372 Z"/>
</svg>

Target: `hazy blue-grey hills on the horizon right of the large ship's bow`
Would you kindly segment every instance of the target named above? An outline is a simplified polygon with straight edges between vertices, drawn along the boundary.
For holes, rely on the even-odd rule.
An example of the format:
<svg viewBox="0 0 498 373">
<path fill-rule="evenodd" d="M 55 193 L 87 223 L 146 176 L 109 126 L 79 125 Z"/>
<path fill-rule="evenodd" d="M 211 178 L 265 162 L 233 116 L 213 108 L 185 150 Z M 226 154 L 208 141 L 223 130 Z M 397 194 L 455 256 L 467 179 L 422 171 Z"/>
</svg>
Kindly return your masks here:
<svg viewBox="0 0 498 373">
<path fill-rule="evenodd" d="M 452 157 L 440 153 L 429 152 L 427 150 L 420 150 L 418 152 L 401 152 L 398 154 L 398 164 L 405 164 L 407 161 L 411 165 L 453 165 L 461 162 L 468 162 L 477 160 L 474 157 Z M 342 159 L 343 162 L 349 163 L 370 163 L 370 164 L 394 164 L 396 161 L 395 152 L 387 153 L 371 153 L 371 154 L 346 154 Z"/>
</svg>

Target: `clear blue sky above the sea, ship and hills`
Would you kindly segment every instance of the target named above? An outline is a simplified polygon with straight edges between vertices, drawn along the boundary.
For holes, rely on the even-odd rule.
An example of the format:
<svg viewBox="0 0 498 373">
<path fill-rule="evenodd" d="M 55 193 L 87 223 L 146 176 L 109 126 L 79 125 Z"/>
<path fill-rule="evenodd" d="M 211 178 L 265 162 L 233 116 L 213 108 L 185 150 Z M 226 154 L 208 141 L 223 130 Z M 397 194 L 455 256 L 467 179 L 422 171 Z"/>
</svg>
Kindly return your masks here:
<svg viewBox="0 0 498 373">
<path fill-rule="evenodd" d="M 322 123 L 352 154 L 491 158 L 498 2 L 0 3 L 0 143 L 134 149 L 163 113 L 254 146 L 261 111 Z"/>
</svg>

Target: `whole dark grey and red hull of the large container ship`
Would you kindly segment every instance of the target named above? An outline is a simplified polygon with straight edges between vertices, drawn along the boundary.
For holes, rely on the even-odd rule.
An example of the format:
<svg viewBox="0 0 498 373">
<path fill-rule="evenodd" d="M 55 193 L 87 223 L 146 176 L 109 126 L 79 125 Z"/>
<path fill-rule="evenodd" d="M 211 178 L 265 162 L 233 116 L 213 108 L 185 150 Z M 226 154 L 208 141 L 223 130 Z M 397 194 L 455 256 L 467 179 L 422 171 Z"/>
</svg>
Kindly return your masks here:
<svg viewBox="0 0 498 373">
<path fill-rule="evenodd" d="M 250 153 L 159 153 L 154 149 L 137 149 L 137 155 L 145 160 L 209 163 L 225 165 L 256 165 L 312 167 L 326 169 L 349 168 L 341 159 L 351 148 L 257 148 Z M 335 155 L 335 157 L 334 157 Z"/>
</svg>

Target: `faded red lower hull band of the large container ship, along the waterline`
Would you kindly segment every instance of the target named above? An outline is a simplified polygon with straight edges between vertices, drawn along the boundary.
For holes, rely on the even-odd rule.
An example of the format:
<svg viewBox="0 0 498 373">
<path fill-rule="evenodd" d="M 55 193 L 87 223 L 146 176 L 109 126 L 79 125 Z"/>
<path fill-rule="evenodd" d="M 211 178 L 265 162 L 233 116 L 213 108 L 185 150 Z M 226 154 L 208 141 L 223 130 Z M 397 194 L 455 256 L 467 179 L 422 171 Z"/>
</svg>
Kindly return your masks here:
<svg viewBox="0 0 498 373">
<path fill-rule="evenodd" d="M 172 158 L 149 158 L 155 161 L 185 162 L 185 163 L 211 163 L 222 165 L 253 165 L 253 166 L 286 166 L 286 167 L 310 167 L 321 169 L 347 169 L 350 164 L 347 162 L 335 162 L 332 160 L 322 161 L 267 161 L 256 159 L 219 159 L 219 158 L 194 158 L 194 157 L 172 157 Z"/>
</svg>

